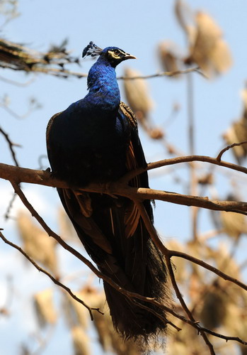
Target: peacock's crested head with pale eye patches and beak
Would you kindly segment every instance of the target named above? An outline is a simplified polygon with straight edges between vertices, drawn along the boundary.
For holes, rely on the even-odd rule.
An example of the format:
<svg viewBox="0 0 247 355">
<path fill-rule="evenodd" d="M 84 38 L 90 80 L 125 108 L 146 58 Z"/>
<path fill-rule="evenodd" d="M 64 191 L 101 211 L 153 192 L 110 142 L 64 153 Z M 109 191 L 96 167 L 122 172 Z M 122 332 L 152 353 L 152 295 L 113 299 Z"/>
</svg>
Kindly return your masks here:
<svg viewBox="0 0 247 355">
<path fill-rule="evenodd" d="M 110 63 L 112 67 L 116 67 L 120 62 L 127 59 L 137 59 L 134 55 L 126 53 L 124 50 L 117 47 L 99 48 L 93 42 L 90 42 L 82 53 L 82 58 L 91 56 L 92 58 L 100 56 L 102 60 Z"/>
</svg>

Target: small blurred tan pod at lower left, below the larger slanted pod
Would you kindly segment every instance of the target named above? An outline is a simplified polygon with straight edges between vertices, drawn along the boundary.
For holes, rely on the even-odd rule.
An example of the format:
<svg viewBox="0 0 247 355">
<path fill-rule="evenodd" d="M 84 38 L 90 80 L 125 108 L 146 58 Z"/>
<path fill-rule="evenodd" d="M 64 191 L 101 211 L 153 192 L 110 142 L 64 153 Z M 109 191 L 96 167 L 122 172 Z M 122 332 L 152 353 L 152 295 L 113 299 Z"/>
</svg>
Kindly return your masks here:
<svg viewBox="0 0 247 355">
<path fill-rule="evenodd" d="M 54 309 L 53 290 L 48 288 L 34 295 L 35 311 L 40 327 L 54 324 L 57 321 L 57 313 Z"/>
</svg>

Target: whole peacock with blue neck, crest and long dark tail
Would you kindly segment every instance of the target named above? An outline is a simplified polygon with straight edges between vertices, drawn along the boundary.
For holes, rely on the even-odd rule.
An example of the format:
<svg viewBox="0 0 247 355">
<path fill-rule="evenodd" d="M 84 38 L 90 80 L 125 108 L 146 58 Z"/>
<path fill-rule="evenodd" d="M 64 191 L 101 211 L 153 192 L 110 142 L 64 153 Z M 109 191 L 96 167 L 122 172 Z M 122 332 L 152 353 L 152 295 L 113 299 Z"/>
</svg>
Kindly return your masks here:
<svg viewBox="0 0 247 355">
<path fill-rule="evenodd" d="M 89 54 L 88 54 L 89 50 Z M 84 56 L 95 53 L 97 62 L 88 73 L 88 94 L 55 114 L 47 126 L 47 152 L 52 173 L 71 185 L 117 180 L 130 170 L 147 166 L 139 141 L 137 121 L 120 102 L 115 67 L 134 58 L 123 50 L 100 50 L 90 43 Z M 133 187 L 149 187 L 147 173 L 130 181 Z M 84 247 L 99 270 L 126 290 L 166 300 L 166 266 L 134 202 L 73 189 L 57 189 L 64 209 Z M 149 200 L 143 202 L 151 222 Z M 148 340 L 166 328 L 166 322 L 138 307 L 125 295 L 104 283 L 115 328 L 125 337 Z M 140 302 L 140 301 L 138 301 Z M 145 303 L 166 320 L 162 310 Z"/>
</svg>

